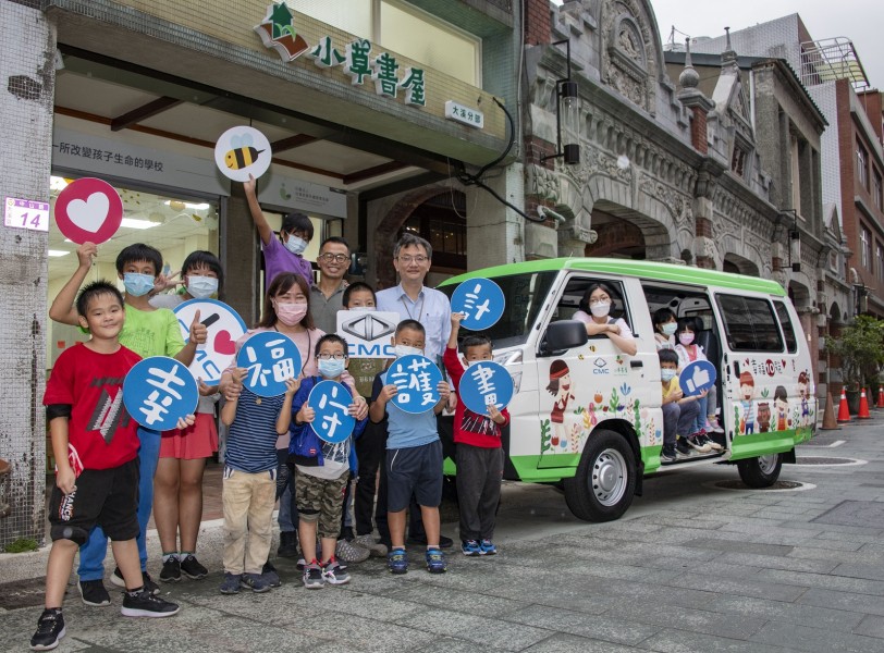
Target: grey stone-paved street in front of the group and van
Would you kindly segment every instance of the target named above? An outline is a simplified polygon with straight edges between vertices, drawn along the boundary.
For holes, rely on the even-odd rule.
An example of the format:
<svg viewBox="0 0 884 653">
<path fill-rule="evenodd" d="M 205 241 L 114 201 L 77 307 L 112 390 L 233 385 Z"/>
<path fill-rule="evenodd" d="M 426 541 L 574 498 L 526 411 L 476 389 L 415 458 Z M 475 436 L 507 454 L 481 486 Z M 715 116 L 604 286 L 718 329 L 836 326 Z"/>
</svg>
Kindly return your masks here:
<svg viewBox="0 0 884 653">
<path fill-rule="evenodd" d="M 284 584 L 269 594 L 222 596 L 219 572 L 163 587 L 183 609 L 162 620 L 120 616 L 115 593 L 113 606 L 87 608 L 72 589 L 59 650 L 880 653 L 879 416 L 799 448 L 799 461 L 865 461 L 784 467 L 782 480 L 815 485 L 805 491 L 712 488 L 738 479 L 732 466 L 667 471 L 646 481 L 623 519 L 588 525 L 553 488 L 507 484 L 501 554 L 452 553 L 441 576 L 423 570 L 414 550 L 404 577 L 372 558 L 352 567 L 351 584 L 308 591 L 292 560 L 277 560 Z M 214 569 L 218 530 L 200 540 Z M 443 530 L 455 534 L 452 525 Z M 0 611 L 0 649 L 25 650 L 39 612 Z"/>
</svg>

